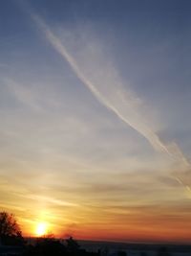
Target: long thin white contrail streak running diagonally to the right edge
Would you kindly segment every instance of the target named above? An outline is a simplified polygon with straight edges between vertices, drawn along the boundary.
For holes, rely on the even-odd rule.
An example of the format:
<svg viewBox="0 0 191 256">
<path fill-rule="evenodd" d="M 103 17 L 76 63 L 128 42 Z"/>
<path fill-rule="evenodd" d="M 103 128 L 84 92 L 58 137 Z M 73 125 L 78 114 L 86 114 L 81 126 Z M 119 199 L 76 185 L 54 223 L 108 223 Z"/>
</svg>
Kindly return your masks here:
<svg viewBox="0 0 191 256">
<path fill-rule="evenodd" d="M 95 82 L 91 81 L 89 76 L 86 76 L 84 74 L 80 65 L 77 63 L 77 61 L 75 61 L 75 58 L 68 52 L 65 45 L 63 45 L 63 43 L 59 39 L 59 37 L 53 34 L 53 31 L 48 27 L 48 25 L 43 21 L 43 19 L 40 18 L 40 16 L 32 12 L 32 8 L 27 3 L 27 1 L 20 0 L 20 3 L 21 6 L 31 15 L 32 20 L 35 22 L 35 24 L 41 30 L 41 32 L 46 36 L 48 41 L 53 46 L 53 49 L 70 64 L 76 77 L 80 81 L 82 81 L 84 85 L 86 85 L 86 87 L 93 93 L 96 99 L 102 105 L 105 105 L 108 109 L 115 113 L 117 117 L 120 120 L 122 120 L 125 124 L 137 130 L 139 134 L 141 134 L 144 138 L 147 139 L 147 141 L 150 143 L 150 145 L 154 148 L 155 151 L 163 151 L 167 153 L 170 157 L 172 157 L 173 160 L 175 160 L 175 162 L 178 163 L 179 177 L 177 174 L 174 174 L 174 177 L 177 179 L 180 185 L 188 189 L 188 186 L 186 185 L 186 179 L 184 179 L 183 176 L 181 178 L 181 175 L 183 175 L 182 171 L 185 174 L 187 174 L 186 171 L 190 173 L 191 164 L 183 155 L 182 151 L 180 151 L 179 146 L 176 143 L 167 144 L 162 142 L 159 139 L 158 134 L 152 128 L 150 128 L 148 124 L 146 124 L 141 114 L 138 112 L 137 109 L 135 109 L 135 106 L 131 105 L 132 99 L 125 99 L 125 101 L 127 102 L 128 100 L 130 104 L 128 103 L 128 109 L 123 109 L 125 108 L 124 105 L 122 105 L 123 108 L 121 109 L 121 105 L 119 105 L 119 102 L 123 102 L 124 97 L 122 99 L 117 98 L 117 91 L 114 90 L 115 93 L 112 99 L 107 96 L 107 92 L 101 92 L 100 85 L 102 85 L 103 82 L 99 82 L 98 87 L 97 84 L 95 84 Z M 128 112 L 130 112 L 130 115 L 128 115 Z"/>
</svg>

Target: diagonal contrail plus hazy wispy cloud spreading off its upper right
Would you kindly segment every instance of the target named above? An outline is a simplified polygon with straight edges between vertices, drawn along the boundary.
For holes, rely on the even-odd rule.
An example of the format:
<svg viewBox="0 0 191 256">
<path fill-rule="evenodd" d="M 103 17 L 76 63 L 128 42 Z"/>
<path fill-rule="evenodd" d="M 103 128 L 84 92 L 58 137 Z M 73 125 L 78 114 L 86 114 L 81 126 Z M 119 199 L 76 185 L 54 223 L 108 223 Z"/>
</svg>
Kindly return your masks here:
<svg viewBox="0 0 191 256">
<path fill-rule="evenodd" d="M 97 45 L 94 47 L 93 41 L 86 41 L 87 45 L 80 49 L 78 54 L 76 54 L 76 49 L 73 53 L 41 17 L 32 13 L 32 20 L 46 36 L 53 49 L 69 63 L 76 77 L 92 92 L 99 103 L 115 113 L 126 125 L 138 131 L 155 151 L 169 155 L 179 165 L 179 174 L 191 169 L 190 163 L 176 143 L 169 144 L 161 141 L 158 133 L 152 128 L 152 122 L 142 114 L 140 99 L 134 93 L 127 91 L 127 84 L 124 84 L 117 74 L 115 66 L 111 61 L 102 58 L 104 53 L 96 48 Z M 176 179 L 179 179 L 178 182 L 182 185 L 185 184 L 180 175 L 176 175 Z M 187 185 L 184 187 L 187 189 Z"/>
</svg>

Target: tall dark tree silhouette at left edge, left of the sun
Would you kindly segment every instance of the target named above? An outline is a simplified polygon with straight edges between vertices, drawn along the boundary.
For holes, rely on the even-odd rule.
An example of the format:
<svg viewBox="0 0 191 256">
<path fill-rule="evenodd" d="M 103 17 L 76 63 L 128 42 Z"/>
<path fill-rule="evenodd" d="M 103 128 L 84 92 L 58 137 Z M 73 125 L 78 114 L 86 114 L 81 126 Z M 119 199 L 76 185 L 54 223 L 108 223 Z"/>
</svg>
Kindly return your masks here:
<svg viewBox="0 0 191 256">
<path fill-rule="evenodd" d="M 0 241 L 2 244 L 24 244 L 20 227 L 12 214 L 0 212 Z"/>
</svg>

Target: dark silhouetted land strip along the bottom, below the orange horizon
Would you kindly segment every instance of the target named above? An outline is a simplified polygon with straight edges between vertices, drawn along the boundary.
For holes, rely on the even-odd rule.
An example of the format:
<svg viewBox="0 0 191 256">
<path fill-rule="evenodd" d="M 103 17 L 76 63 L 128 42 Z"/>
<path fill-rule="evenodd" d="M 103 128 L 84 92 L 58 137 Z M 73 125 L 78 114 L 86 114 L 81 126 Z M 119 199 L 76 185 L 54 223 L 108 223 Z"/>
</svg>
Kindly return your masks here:
<svg viewBox="0 0 191 256">
<path fill-rule="evenodd" d="M 23 245 L 0 244 L 0 256 L 191 256 L 191 244 L 128 244 L 75 241 L 73 238 L 25 239 Z"/>
</svg>

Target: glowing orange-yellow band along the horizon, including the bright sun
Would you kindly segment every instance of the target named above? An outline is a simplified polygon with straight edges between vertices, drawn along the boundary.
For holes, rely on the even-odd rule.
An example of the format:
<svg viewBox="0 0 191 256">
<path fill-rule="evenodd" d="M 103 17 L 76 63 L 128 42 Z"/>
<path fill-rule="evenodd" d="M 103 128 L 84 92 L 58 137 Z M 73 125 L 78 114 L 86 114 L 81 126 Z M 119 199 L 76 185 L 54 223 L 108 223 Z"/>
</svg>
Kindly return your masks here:
<svg viewBox="0 0 191 256">
<path fill-rule="evenodd" d="M 142 211 L 141 216 L 129 214 L 126 220 L 120 218 L 113 221 L 107 215 L 104 223 L 97 221 L 93 213 L 87 216 L 89 221 L 78 221 L 76 216 L 78 217 L 76 212 L 70 211 L 70 218 L 69 215 L 61 220 L 56 219 L 56 215 L 52 215 L 52 219 L 50 216 L 43 216 L 39 219 L 36 217 L 35 221 L 23 222 L 20 219 L 19 224 L 24 236 L 34 237 L 48 235 L 51 228 L 54 237 L 63 239 L 70 235 L 76 240 L 139 243 L 189 243 L 191 240 L 191 229 L 187 228 L 190 226 L 189 216 L 184 216 L 183 221 L 173 221 L 164 217 L 163 219 L 161 213 L 148 218 L 146 212 L 143 215 Z"/>
</svg>

